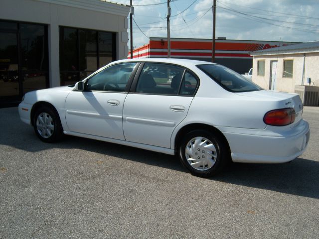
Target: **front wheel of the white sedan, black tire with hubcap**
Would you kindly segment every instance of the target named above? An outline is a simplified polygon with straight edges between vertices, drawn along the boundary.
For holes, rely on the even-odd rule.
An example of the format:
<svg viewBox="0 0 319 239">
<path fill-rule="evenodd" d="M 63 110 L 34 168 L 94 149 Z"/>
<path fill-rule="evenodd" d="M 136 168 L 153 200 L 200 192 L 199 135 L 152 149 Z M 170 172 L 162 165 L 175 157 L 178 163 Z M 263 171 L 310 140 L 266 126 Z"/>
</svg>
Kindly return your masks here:
<svg viewBox="0 0 319 239">
<path fill-rule="evenodd" d="M 33 128 L 39 139 L 47 143 L 59 141 L 64 135 L 58 113 L 48 106 L 41 106 L 36 110 Z"/>
</svg>

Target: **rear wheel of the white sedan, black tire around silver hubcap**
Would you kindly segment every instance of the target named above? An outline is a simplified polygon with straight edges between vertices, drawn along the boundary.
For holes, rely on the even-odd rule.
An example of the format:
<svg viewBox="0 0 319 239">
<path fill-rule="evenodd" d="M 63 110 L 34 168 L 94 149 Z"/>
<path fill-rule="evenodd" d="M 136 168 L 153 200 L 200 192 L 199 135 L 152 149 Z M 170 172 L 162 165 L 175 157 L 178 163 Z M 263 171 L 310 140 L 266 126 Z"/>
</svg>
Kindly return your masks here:
<svg viewBox="0 0 319 239">
<path fill-rule="evenodd" d="M 195 147 L 195 138 L 197 142 L 202 143 L 201 146 Z M 186 152 L 187 145 L 192 154 L 187 154 L 189 152 Z M 212 148 L 214 151 L 210 150 Z M 193 130 L 185 134 L 178 146 L 178 155 L 182 165 L 191 174 L 199 177 L 211 177 L 220 173 L 230 159 L 227 142 L 219 135 L 207 130 Z M 194 160 L 191 160 L 192 158 Z M 191 166 L 191 163 L 195 166 Z"/>
</svg>

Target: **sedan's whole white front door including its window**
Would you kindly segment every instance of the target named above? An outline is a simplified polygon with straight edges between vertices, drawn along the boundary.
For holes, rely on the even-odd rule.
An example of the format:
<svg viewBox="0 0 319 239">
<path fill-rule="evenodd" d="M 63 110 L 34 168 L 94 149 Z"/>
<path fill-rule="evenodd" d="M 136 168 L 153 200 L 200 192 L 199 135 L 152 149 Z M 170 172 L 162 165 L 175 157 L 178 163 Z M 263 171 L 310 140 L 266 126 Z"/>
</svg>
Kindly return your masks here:
<svg viewBox="0 0 319 239">
<path fill-rule="evenodd" d="M 109 66 L 85 82 L 84 91 L 72 91 L 65 116 L 72 132 L 125 140 L 123 104 L 137 63 Z"/>
</svg>

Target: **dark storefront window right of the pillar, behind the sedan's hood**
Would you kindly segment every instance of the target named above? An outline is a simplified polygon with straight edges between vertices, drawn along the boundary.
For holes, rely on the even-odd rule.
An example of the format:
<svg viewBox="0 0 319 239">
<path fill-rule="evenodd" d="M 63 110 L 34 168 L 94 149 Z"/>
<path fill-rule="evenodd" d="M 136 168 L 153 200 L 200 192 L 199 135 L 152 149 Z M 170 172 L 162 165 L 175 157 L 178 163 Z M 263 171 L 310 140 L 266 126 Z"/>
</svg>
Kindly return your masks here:
<svg viewBox="0 0 319 239">
<path fill-rule="evenodd" d="M 60 27 L 60 81 L 71 85 L 115 58 L 115 34 Z"/>
</svg>

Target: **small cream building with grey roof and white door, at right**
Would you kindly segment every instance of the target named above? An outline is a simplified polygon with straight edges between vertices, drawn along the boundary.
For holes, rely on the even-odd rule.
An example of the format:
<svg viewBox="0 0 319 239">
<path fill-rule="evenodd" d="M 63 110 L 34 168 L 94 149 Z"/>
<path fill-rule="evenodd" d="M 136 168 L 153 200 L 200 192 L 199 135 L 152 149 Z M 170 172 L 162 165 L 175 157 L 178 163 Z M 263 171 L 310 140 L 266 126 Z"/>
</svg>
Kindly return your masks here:
<svg viewBox="0 0 319 239">
<path fill-rule="evenodd" d="M 300 94 L 305 105 L 319 105 L 319 41 L 251 52 L 253 82 L 265 89 Z"/>
</svg>

